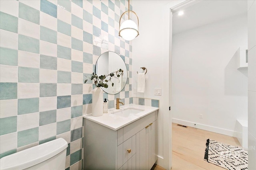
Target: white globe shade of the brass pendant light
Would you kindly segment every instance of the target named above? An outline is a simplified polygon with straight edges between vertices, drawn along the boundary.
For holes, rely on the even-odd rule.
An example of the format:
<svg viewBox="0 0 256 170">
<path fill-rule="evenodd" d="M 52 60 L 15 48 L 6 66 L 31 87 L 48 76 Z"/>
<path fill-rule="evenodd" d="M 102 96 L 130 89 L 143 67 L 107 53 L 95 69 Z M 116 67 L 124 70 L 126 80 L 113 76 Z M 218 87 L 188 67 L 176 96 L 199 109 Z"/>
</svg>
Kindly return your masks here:
<svg viewBox="0 0 256 170">
<path fill-rule="evenodd" d="M 133 40 L 135 37 L 139 35 L 138 26 L 132 20 L 126 20 L 120 25 L 120 36 L 127 40 Z"/>
</svg>

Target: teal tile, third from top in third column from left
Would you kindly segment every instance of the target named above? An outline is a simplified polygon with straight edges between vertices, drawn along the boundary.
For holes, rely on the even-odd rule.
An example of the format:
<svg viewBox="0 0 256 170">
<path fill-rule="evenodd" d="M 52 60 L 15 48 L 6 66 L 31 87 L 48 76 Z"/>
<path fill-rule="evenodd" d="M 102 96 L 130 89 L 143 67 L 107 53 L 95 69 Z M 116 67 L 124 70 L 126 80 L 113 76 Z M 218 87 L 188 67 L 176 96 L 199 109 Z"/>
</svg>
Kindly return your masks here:
<svg viewBox="0 0 256 170">
<path fill-rule="evenodd" d="M 40 68 L 57 70 L 57 58 L 40 55 Z"/>
</svg>

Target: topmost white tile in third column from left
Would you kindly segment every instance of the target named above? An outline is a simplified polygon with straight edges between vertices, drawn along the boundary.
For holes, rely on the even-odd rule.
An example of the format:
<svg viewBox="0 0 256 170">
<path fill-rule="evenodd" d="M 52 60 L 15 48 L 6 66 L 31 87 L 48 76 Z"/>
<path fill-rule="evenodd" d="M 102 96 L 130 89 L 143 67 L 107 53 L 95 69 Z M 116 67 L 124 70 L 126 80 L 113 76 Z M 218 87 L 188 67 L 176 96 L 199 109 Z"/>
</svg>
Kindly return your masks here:
<svg viewBox="0 0 256 170">
<path fill-rule="evenodd" d="M 40 12 L 40 25 L 57 31 L 57 18 Z"/>
</svg>

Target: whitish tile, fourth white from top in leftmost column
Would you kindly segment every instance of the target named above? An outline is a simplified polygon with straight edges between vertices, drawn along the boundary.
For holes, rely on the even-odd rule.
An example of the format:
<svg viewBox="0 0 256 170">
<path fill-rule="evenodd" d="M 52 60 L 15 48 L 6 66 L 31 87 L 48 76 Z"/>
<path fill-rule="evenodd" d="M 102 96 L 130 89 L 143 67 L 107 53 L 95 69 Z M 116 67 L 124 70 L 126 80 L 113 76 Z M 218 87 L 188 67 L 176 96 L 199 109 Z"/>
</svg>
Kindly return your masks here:
<svg viewBox="0 0 256 170">
<path fill-rule="evenodd" d="M 0 118 L 12 117 L 17 115 L 18 100 L 1 100 L 0 101 Z"/>
</svg>

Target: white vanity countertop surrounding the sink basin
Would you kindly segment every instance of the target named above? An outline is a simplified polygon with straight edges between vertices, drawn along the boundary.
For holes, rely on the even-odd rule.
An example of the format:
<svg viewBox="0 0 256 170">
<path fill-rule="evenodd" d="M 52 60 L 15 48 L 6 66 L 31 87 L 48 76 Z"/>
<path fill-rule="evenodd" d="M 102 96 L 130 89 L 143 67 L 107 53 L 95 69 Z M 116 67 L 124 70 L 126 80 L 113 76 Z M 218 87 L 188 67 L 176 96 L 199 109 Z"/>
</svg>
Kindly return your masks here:
<svg viewBox="0 0 256 170">
<path fill-rule="evenodd" d="M 118 110 L 126 109 L 126 108 L 136 108 L 141 109 L 140 113 L 137 113 L 135 115 L 130 115 L 129 117 L 122 117 L 119 115 L 113 114 L 113 112 L 116 112 Z M 108 127 L 114 131 L 117 131 L 118 129 L 158 110 L 158 107 L 151 107 L 151 106 L 142 106 L 137 104 L 128 104 L 124 106 L 120 106 L 120 109 L 112 108 L 108 109 L 108 113 L 103 113 L 102 116 L 92 116 L 91 114 L 83 115 L 85 119 L 94 121 L 95 123 L 98 123 L 100 125 L 103 125 L 105 127 Z"/>
</svg>

